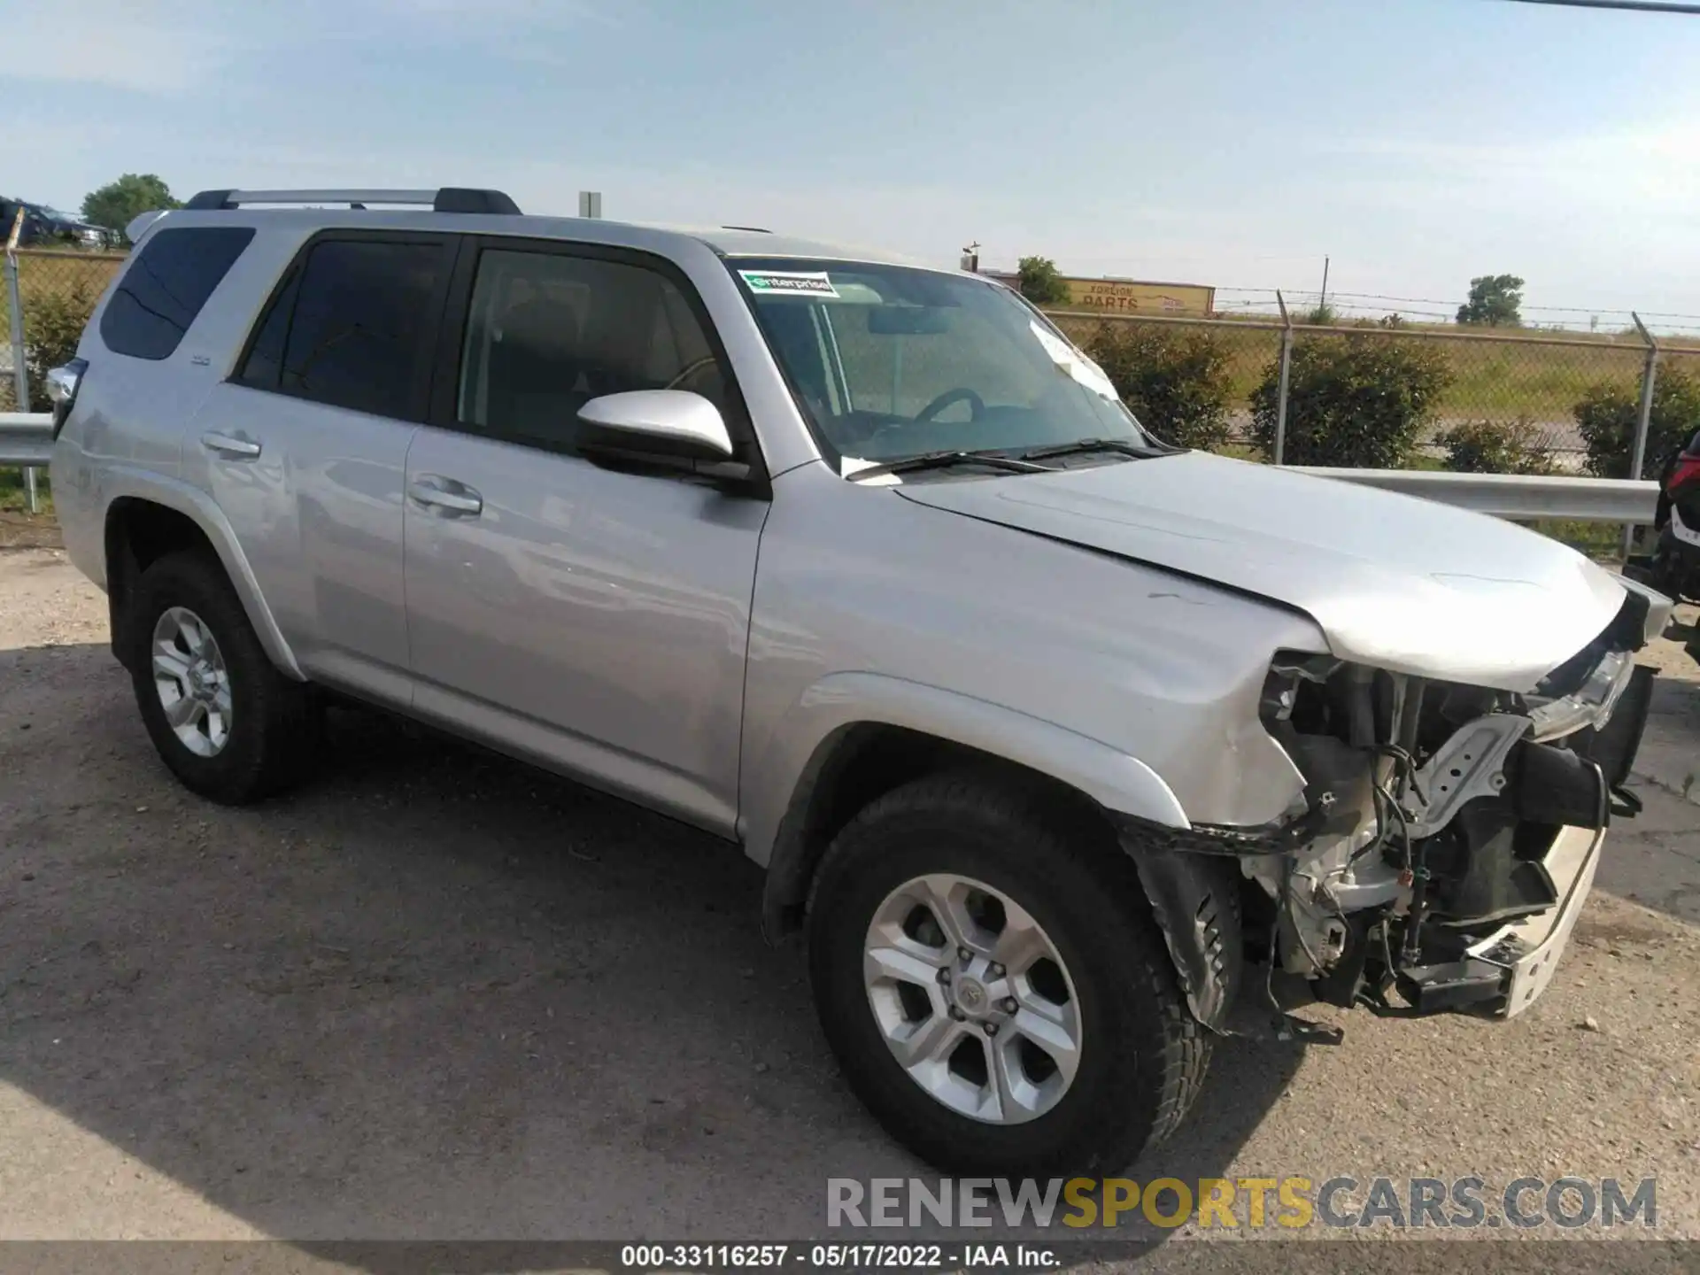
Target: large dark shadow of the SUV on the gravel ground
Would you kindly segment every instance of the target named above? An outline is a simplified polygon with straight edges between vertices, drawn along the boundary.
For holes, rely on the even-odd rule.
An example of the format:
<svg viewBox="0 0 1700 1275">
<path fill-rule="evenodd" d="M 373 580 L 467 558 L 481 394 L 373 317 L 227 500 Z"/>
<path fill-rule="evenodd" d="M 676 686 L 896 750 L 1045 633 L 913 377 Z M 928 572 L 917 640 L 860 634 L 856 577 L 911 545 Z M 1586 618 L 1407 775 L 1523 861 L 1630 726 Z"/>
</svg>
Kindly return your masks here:
<svg viewBox="0 0 1700 1275">
<path fill-rule="evenodd" d="M 935 1178 L 843 1086 L 733 847 L 372 712 L 301 792 L 216 808 L 105 648 L 0 653 L 0 1081 L 201 1226 L 411 1270 L 343 1241 L 819 1238 L 828 1178 Z M 1219 1176 L 1300 1057 L 1224 1042 L 1129 1175 Z M 505 1251 L 456 1268 L 536 1258 Z"/>
</svg>

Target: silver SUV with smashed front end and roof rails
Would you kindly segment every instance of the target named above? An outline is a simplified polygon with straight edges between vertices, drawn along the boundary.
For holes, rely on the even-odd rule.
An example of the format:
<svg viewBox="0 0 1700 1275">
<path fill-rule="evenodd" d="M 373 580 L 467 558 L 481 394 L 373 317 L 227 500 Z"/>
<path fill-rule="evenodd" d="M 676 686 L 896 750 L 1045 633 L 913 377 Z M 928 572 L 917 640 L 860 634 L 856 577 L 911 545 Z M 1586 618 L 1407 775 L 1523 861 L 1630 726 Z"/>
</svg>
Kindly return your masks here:
<svg viewBox="0 0 1700 1275">
<path fill-rule="evenodd" d="M 355 699 L 741 845 L 940 1166 L 1122 1166 L 1307 1003 L 1522 1012 L 1632 813 L 1666 598 L 1171 447 L 1003 286 L 471 189 L 133 238 L 53 490 L 165 763 L 255 801 Z"/>
</svg>

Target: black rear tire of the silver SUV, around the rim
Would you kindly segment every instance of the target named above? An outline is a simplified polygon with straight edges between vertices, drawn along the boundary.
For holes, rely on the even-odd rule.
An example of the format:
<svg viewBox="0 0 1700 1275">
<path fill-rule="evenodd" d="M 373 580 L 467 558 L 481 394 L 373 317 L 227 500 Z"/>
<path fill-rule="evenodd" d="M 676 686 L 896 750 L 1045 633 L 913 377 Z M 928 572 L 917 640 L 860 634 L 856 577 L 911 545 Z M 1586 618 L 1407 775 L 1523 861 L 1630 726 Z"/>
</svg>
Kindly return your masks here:
<svg viewBox="0 0 1700 1275">
<path fill-rule="evenodd" d="M 187 619 L 185 619 L 187 615 Z M 168 719 L 165 697 L 156 685 L 156 636 L 162 617 L 177 638 L 167 660 L 184 660 L 192 643 L 184 634 L 199 624 L 212 648 L 202 648 L 223 665 L 224 709 L 201 712 L 197 733 L 206 745 L 190 746 Z M 194 620 L 194 624 L 190 624 Z M 124 620 L 126 665 L 136 690 L 136 706 L 160 758 L 192 792 L 226 806 L 243 806 L 269 797 L 298 782 L 309 768 L 320 740 L 321 714 L 313 694 L 277 672 L 231 588 L 223 564 L 211 552 L 172 552 L 148 566 Z M 196 673 L 209 668 L 199 663 Z M 187 677 L 187 675 L 185 675 Z M 184 677 L 172 678 L 178 692 Z M 207 687 L 212 677 L 197 682 Z M 218 722 L 223 721 L 219 738 Z M 206 751 L 197 751 L 204 748 Z"/>
</svg>

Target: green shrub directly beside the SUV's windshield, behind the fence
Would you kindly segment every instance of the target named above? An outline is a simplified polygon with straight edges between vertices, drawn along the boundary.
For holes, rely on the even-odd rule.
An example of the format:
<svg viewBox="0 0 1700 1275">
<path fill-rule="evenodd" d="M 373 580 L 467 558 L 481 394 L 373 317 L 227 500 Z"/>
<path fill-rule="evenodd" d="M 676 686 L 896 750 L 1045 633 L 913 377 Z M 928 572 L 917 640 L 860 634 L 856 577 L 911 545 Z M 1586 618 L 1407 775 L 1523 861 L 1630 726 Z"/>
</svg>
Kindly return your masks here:
<svg viewBox="0 0 1700 1275">
<path fill-rule="evenodd" d="M 1086 354 L 1159 439 L 1204 450 L 1227 442 L 1229 359 L 1209 328 L 1100 323 Z"/>
</svg>

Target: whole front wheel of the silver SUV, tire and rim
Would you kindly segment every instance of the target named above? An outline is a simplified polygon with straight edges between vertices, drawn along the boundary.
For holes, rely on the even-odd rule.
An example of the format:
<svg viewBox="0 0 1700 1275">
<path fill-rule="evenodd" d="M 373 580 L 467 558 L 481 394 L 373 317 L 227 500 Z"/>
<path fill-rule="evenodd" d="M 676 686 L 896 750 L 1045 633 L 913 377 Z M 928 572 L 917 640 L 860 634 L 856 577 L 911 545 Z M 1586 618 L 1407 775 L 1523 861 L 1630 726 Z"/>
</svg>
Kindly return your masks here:
<svg viewBox="0 0 1700 1275">
<path fill-rule="evenodd" d="M 1122 1168 L 1209 1062 L 1108 831 L 972 777 L 898 789 L 838 835 L 809 967 L 852 1088 L 947 1171 Z"/>
</svg>

